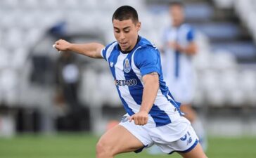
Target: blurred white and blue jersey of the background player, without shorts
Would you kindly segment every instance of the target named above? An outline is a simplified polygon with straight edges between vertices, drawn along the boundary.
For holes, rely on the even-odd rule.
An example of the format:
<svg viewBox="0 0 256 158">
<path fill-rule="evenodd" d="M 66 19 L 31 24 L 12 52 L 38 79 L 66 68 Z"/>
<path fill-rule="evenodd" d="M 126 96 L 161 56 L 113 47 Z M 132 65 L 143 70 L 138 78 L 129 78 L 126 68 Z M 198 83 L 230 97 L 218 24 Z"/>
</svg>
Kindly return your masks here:
<svg viewBox="0 0 256 158">
<path fill-rule="evenodd" d="M 188 24 L 182 24 L 179 27 L 167 27 L 163 35 L 162 43 L 177 42 L 180 46 L 186 47 L 194 40 L 194 29 Z M 162 58 L 164 78 L 167 79 L 167 86 L 172 90 L 172 87 L 176 85 L 176 81 L 186 83 L 192 78 L 192 56 L 169 47 L 166 47 L 164 51 L 165 54 Z M 189 82 L 189 84 L 191 84 L 191 82 Z"/>
</svg>

